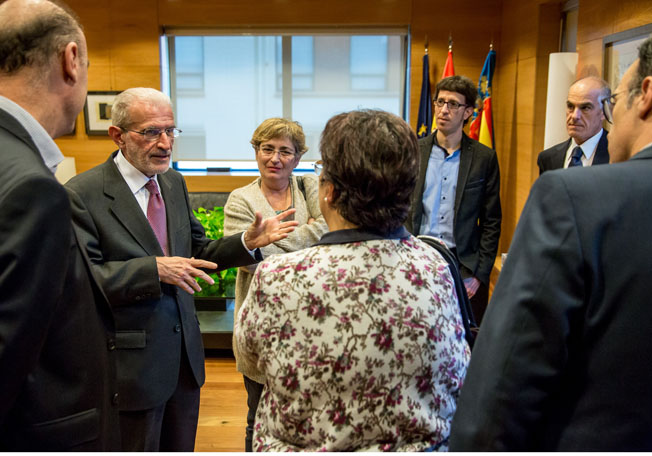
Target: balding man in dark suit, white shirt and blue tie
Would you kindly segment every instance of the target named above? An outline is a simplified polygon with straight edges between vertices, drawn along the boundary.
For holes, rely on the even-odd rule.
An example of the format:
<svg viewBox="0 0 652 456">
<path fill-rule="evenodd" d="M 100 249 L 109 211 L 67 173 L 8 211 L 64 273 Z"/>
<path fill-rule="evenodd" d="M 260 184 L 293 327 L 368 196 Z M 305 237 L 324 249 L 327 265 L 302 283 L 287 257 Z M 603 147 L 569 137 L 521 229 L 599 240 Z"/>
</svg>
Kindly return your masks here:
<svg viewBox="0 0 652 456">
<path fill-rule="evenodd" d="M 611 90 L 606 81 L 589 76 L 575 81 L 568 89 L 566 130 L 570 138 L 539 154 L 539 174 L 553 169 L 609 163 L 603 105 Z"/>
</svg>

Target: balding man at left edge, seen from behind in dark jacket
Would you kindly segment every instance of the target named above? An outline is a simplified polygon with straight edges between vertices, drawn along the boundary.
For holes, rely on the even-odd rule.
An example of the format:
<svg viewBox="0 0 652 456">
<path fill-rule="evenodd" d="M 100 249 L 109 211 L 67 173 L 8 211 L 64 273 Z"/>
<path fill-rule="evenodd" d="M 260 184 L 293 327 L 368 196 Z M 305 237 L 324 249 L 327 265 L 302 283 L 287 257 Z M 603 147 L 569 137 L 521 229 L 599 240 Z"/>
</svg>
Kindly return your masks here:
<svg viewBox="0 0 652 456">
<path fill-rule="evenodd" d="M 0 5 L 0 451 L 116 451 L 111 309 L 53 176 L 86 98 L 72 12 Z"/>
</svg>

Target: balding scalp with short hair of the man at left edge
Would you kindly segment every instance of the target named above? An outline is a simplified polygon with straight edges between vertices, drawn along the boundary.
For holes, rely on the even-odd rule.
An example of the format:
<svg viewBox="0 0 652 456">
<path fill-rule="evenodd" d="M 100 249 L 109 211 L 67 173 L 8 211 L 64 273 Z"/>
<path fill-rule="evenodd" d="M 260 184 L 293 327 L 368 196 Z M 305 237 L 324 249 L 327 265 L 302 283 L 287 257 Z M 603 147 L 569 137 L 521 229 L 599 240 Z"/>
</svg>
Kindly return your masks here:
<svg viewBox="0 0 652 456">
<path fill-rule="evenodd" d="M 25 68 L 45 69 L 68 43 L 85 49 L 83 40 L 79 20 L 63 5 L 48 0 L 0 4 L 0 76 Z"/>
</svg>

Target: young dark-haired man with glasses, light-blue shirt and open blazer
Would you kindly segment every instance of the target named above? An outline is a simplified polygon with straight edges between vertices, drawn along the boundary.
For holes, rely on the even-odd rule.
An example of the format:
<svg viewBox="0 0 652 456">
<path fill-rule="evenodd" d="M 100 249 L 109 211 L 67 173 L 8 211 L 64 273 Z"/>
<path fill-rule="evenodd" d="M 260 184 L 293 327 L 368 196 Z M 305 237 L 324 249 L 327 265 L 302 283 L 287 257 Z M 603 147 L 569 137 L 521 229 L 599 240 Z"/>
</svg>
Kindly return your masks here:
<svg viewBox="0 0 652 456">
<path fill-rule="evenodd" d="M 419 179 L 407 229 L 443 240 L 456 255 L 479 324 L 500 239 L 500 172 L 496 152 L 463 131 L 478 91 L 466 76 L 435 89 L 437 130 L 419 139 Z"/>
</svg>

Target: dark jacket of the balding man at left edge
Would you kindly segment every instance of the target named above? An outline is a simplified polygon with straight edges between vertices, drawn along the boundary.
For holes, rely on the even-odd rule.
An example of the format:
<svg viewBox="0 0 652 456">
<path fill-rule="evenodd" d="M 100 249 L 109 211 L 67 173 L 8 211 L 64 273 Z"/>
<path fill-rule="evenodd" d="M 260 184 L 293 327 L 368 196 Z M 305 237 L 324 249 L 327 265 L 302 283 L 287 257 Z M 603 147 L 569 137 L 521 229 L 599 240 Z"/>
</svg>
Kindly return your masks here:
<svg viewBox="0 0 652 456">
<path fill-rule="evenodd" d="M 0 109 L 0 450 L 120 449 L 113 318 L 63 187 Z"/>
</svg>

